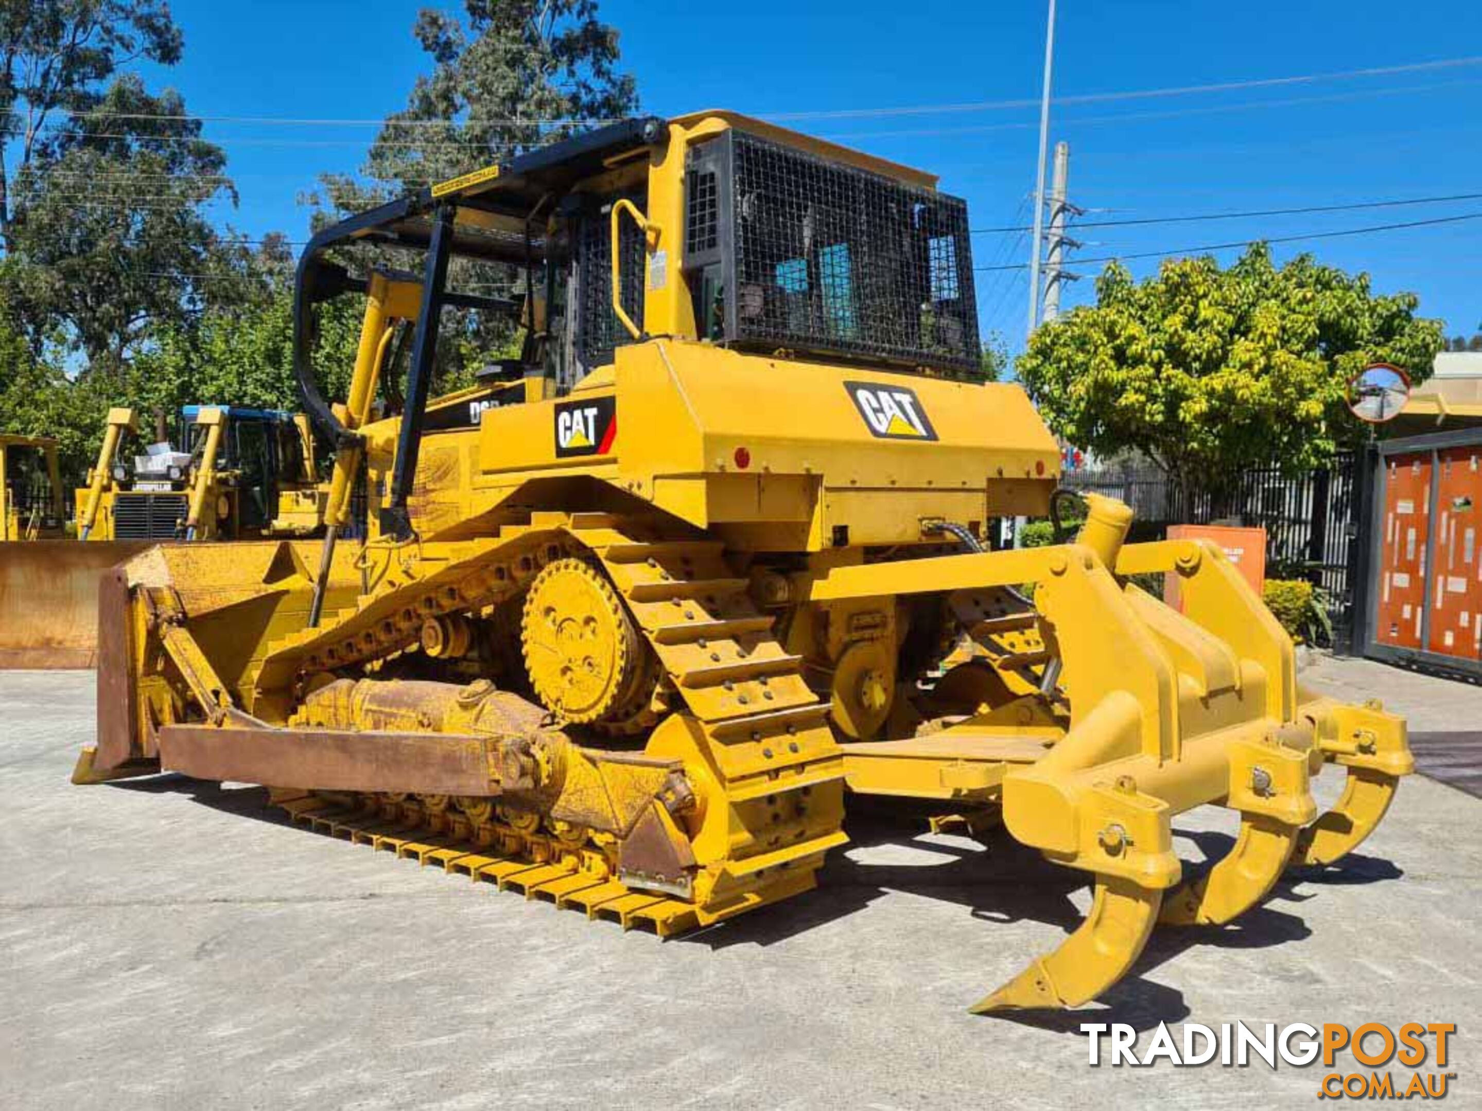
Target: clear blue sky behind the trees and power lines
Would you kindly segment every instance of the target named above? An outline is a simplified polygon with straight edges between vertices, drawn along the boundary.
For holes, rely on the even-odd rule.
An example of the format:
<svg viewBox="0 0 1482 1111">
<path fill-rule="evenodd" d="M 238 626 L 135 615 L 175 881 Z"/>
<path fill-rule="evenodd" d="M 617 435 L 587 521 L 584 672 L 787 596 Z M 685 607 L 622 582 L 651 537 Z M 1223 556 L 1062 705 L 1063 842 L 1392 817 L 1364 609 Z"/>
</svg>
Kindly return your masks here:
<svg viewBox="0 0 1482 1111">
<path fill-rule="evenodd" d="M 375 127 L 279 120 L 378 120 L 405 105 L 425 58 L 411 37 L 415 0 L 175 0 L 181 65 L 151 74 L 185 95 L 222 144 L 240 204 L 222 218 L 249 234 L 302 238 L 298 203 L 323 170 L 360 166 Z M 1043 0 L 908 4 L 605 0 L 643 108 L 729 107 L 815 116 L 791 126 L 922 166 L 966 197 L 975 228 L 1031 216 L 1037 110 L 825 116 L 986 105 L 1039 95 Z M 313 16 L 310 16 L 313 13 Z M 1446 59 L 1466 64 L 1226 92 L 1057 104 L 1051 138 L 1071 145 L 1070 194 L 1086 221 L 1482 194 L 1482 4 L 1476 0 L 1211 3 L 1061 0 L 1055 93 L 1156 90 L 1319 76 Z M 1165 252 L 1260 236 L 1365 228 L 1482 213 L 1482 198 L 1408 207 L 1214 222 L 1085 228 L 1082 258 Z M 980 234 L 980 267 L 1021 264 L 1029 237 Z M 1289 243 L 1366 270 L 1381 292 L 1420 293 L 1448 333 L 1482 329 L 1482 219 Z M 1218 252 L 1232 259 L 1236 250 Z M 1156 259 L 1131 261 L 1152 273 Z M 1071 256 L 1074 267 L 1074 255 Z M 1079 273 L 1094 274 L 1100 264 Z M 1073 283 L 1066 305 L 1092 296 Z M 1023 270 L 978 274 L 984 329 L 1018 348 Z"/>
</svg>

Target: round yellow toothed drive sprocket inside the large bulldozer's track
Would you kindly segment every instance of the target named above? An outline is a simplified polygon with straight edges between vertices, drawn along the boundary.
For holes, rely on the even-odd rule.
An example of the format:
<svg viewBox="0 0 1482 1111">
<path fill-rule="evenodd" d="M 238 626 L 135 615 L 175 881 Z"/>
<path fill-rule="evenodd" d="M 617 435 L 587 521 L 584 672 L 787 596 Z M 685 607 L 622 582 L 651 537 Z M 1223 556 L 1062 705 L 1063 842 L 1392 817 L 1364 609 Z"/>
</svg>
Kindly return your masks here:
<svg viewBox="0 0 1482 1111">
<path fill-rule="evenodd" d="M 648 711 L 657 668 L 608 576 L 582 558 L 547 564 L 525 597 L 520 647 L 541 704 L 621 730 Z"/>
</svg>

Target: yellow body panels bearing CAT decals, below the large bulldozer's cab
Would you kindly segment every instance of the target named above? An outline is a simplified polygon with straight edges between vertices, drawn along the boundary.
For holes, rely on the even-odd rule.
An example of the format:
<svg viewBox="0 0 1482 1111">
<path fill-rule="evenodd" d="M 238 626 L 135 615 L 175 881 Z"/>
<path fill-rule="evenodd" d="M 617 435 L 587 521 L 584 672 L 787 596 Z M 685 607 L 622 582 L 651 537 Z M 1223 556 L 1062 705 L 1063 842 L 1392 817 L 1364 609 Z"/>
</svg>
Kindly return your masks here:
<svg viewBox="0 0 1482 1111">
<path fill-rule="evenodd" d="M 860 384 L 910 393 L 931 434 L 871 434 L 851 394 Z M 609 450 L 562 458 L 557 413 L 603 404 L 615 409 Z M 399 425 L 366 427 L 372 474 L 390 471 Z M 612 372 L 566 398 L 488 409 L 477 430 L 427 436 L 412 511 L 431 538 L 513 521 L 534 504 L 658 510 L 738 548 L 818 553 L 920 542 L 940 520 L 977 530 L 1043 516 L 1058 478 L 1060 449 L 1017 385 L 657 339 L 619 348 Z"/>
</svg>

